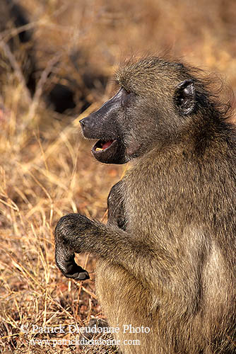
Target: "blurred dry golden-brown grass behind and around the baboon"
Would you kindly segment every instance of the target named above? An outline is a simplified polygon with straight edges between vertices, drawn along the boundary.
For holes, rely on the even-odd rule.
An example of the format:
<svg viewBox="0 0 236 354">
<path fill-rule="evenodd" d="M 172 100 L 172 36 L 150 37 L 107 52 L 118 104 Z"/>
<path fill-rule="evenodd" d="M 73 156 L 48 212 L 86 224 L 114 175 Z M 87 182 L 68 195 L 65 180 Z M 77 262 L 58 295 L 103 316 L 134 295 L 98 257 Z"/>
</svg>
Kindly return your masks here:
<svg viewBox="0 0 236 354">
<path fill-rule="evenodd" d="M 95 297 L 95 259 L 78 256 L 90 272 L 91 280 L 83 283 L 64 278 L 54 262 L 53 231 L 59 217 L 81 212 L 102 219 L 107 194 L 124 169 L 93 160 L 78 120 L 112 95 L 112 72 L 129 55 L 169 52 L 220 73 L 236 90 L 236 3 L 18 3 L 30 18 L 30 45 L 11 51 L 7 43 L 16 40 L 17 32 L 0 13 L 0 350 L 78 353 L 74 346 L 30 345 L 33 338 L 75 338 L 33 333 L 33 324 L 83 326 L 91 316 L 102 317 Z M 28 51 L 37 67 L 33 96 L 25 86 Z M 44 98 L 55 82 L 69 84 L 75 92 L 76 107 L 63 114 Z M 21 325 L 28 325 L 28 333 Z"/>
</svg>

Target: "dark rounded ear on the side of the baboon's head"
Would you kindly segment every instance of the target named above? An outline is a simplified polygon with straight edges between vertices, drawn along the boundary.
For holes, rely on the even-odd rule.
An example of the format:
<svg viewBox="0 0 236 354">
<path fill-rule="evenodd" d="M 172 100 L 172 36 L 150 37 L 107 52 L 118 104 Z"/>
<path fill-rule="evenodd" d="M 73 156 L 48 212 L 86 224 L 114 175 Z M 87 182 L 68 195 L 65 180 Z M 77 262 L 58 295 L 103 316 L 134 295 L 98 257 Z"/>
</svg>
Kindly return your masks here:
<svg viewBox="0 0 236 354">
<path fill-rule="evenodd" d="M 175 91 L 175 104 L 179 112 L 184 115 L 194 110 L 196 105 L 196 93 L 193 80 L 184 80 L 177 86 Z"/>
</svg>

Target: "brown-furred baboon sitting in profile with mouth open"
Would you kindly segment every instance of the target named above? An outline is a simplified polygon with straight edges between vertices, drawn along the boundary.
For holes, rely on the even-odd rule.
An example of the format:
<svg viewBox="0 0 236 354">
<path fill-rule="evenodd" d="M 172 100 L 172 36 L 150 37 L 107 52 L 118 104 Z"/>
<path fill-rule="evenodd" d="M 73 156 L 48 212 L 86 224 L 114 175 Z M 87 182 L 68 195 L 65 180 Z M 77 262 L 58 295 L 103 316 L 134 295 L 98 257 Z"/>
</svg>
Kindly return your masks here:
<svg viewBox="0 0 236 354">
<path fill-rule="evenodd" d="M 57 265 L 81 280 L 88 273 L 74 252 L 98 256 L 96 292 L 123 354 L 236 353 L 230 105 L 200 70 L 175 59 L 131 60 L 116 79 L 117 94 L 81 127 L 98 140 L 95 159 L 131 168 L 110 191 L 107 224 L 61 217 Z"/>
</svg>

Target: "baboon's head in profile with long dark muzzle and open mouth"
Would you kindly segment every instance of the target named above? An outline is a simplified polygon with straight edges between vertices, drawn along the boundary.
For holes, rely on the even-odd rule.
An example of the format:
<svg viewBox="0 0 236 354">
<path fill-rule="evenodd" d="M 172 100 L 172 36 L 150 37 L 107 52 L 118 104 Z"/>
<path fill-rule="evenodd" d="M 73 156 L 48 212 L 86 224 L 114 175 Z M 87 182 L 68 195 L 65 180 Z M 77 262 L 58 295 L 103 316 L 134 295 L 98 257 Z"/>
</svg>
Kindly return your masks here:
<svg viewBox="0 0 236 354">
<path fill-rule="evenodd" d="M 92 148 L 95 159 L 124 164 L 179 133 L 179 122 L 196 106 L 194 81 L 182 70 L 157 58 L 119 69 L 117 94 L 80 121 L 84 137 L 98 139 Z"/>
</svg>

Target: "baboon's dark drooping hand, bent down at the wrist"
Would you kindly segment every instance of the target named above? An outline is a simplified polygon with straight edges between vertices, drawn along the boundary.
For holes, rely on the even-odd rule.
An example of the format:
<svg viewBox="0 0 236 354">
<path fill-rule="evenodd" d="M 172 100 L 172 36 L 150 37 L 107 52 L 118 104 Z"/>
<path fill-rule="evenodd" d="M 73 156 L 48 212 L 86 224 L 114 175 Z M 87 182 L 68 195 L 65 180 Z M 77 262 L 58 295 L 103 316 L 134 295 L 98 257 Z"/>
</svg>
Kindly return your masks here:
<svg viewBox="0 0 236 354">
<path fill-rule="evenodd" d="M 74 261 L 74 252 L 83 252 L 84 235 L 93 222 L 80 214 L 69 214 L 59 219 L 55 229 L 55 258 L 58 268 L 67 278 L 89 279 L 88 272 Z"/>
</svg>

